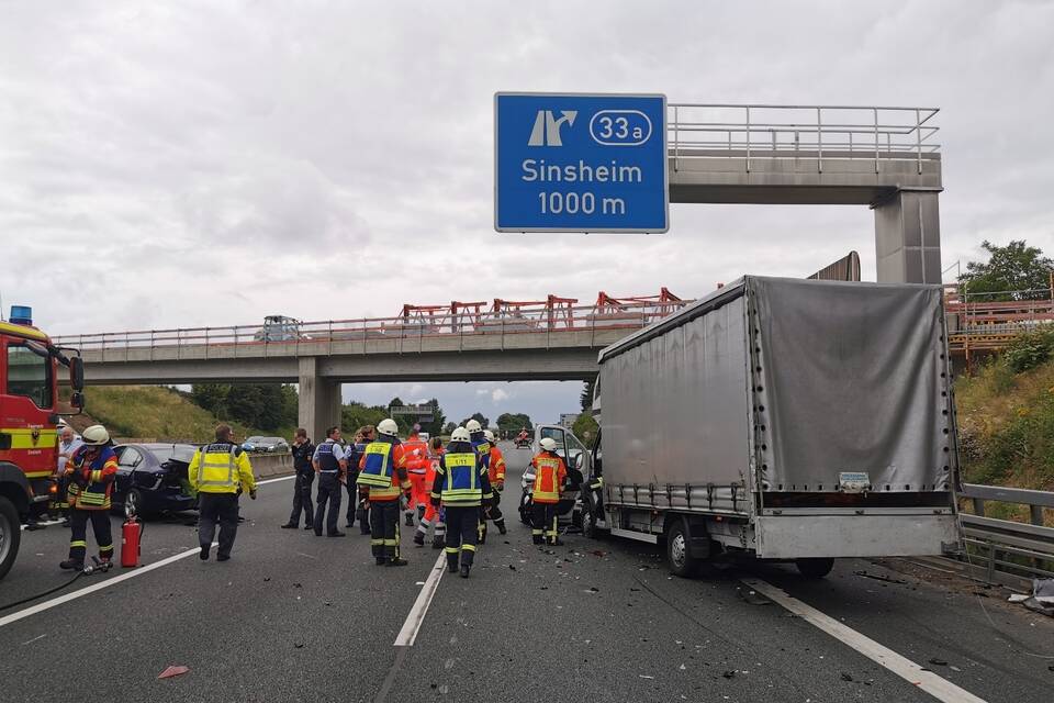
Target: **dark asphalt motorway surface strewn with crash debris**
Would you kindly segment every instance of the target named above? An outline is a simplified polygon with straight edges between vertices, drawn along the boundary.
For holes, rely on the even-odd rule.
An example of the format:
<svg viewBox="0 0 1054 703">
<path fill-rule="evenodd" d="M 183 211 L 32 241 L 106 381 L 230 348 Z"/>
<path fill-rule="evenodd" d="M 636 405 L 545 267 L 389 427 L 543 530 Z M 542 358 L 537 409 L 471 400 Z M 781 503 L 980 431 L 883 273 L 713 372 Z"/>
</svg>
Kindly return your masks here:
<svg viewBox="0 0 1054 703">
<path fill-rule="evenodd" d="M 686 580 L 632 542 L 567 535 L 539 549 L 516 514 L 528 453 L 503 449 L 509 533 L 491 531 L 468 580 L 429 580 L 441 553 L 407 528 L 401 569 L 374 566 L 357 526 L 279 529 L 292 482 L 268 482 L 243 500 L 228 562 L 179 557 L 197 553 L 192 515 L 152 521 L 144 567 L 0 611 L 0 698 L 1051 701 L 1054 622 L 1001 591 L 900 560 L 839 561 L 819 581 L 778 565 Z M 68 580 L 68 539 L 57 525 L 23 533 L 0 605 Z M 189 672 L 159 679 L 169 666 Z"/>
</svg>

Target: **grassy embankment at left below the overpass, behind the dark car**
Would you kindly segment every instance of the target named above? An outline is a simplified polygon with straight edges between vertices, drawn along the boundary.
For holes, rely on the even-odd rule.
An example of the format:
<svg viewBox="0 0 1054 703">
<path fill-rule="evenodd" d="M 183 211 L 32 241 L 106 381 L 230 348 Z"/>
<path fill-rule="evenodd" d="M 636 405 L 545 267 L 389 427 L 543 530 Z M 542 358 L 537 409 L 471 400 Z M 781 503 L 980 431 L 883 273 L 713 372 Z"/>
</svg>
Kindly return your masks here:
<svg viewBox="0 0 1054 703">
<path fill-rule="evenodd" d="M 293 428 L 264 432 L 217 419 L 178 391 L 158 386 L 96 386 L 86 389 L 86 414 L 70 419 L 78 431 L 99 422 L 120 438 L 159 442 L 208 442 L 216 424 L 227 422 L 239 440 L 250 435 L 289 439 Z"/>
</svg>

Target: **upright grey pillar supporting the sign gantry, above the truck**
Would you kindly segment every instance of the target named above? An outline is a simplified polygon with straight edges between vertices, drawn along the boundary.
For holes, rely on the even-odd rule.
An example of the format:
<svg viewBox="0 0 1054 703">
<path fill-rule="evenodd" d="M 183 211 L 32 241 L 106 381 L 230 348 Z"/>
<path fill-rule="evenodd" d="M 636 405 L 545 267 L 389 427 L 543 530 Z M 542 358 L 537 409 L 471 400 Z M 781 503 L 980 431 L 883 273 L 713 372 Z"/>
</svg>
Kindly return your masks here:
<svg viewBox="0 0 1054 703">
<path fill-rule="evenodd" d="M 941 282 L 937 190 L 898 190 L 874 205 L 879 283 Z"/>
</svg>

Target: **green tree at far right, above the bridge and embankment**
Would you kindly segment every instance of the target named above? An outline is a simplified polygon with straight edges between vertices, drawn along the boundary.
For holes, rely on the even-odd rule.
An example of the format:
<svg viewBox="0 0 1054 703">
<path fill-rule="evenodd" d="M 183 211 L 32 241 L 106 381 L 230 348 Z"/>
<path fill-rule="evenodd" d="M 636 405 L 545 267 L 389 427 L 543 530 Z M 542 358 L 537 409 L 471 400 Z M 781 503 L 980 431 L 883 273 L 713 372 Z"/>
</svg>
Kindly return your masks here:
<svg viewBox="0 0 1054 703">
<path fill-rule="evenodd" d="M 1043 256 L 1042 249 L 1013 241 L 997 246 L 982 242 L 990 255 L 987 261 L 971 261 L 958 282 L 973 299 L 976 293 L 1001 293 L 978 297 L 980 301 L 1042 300 L 1051 297 L 1051 271 L 1054 261 Z M 1018 292 L 1008 292 L 1018 291 Z M 1024 292 L 1021 292 L 1024 291 Z"/>
</svg>

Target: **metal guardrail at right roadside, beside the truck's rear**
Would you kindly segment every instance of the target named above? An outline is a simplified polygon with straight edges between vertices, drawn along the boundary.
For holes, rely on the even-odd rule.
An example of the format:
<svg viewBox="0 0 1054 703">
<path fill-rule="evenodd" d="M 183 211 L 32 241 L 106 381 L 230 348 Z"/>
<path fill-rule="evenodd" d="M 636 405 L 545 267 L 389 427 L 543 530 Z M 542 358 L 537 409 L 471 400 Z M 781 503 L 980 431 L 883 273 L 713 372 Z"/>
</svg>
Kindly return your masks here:
<svg viewBox="0 0 1054 703">
<path fill-rule="evenodd" d="M 979 556 L 989 583 L 995 582 L 996 571 L 1054 578 L 1054 527 L 1044 526 L 1043 520 L 1043 511 L 1054 509 L 1054 492 L 967 483 L 960 495 L 973 502 L 974 514 L 960 514 L 963 543 L 967 550 L 973 547 L 973 554 L 953 556 L 974 566 L 974 557 Z M 987 517 L 986 501 L 1028 505 L 1030 522 Z"/>
</svg>

